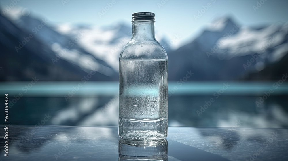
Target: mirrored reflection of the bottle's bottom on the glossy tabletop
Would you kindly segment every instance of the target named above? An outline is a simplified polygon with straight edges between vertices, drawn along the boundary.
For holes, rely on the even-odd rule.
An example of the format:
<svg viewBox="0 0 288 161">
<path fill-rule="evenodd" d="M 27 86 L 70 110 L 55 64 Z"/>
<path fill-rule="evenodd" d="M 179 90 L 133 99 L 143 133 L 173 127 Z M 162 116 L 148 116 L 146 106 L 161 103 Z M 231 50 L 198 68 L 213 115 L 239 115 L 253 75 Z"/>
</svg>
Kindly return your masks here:
<svg viewBox="0 0 288 161">
<path fill-rule="evenodd" d="M 168 141 L 134 141 L 119 139 L 119 161 L 132 160 L 168 160 Z"/>
</svg>

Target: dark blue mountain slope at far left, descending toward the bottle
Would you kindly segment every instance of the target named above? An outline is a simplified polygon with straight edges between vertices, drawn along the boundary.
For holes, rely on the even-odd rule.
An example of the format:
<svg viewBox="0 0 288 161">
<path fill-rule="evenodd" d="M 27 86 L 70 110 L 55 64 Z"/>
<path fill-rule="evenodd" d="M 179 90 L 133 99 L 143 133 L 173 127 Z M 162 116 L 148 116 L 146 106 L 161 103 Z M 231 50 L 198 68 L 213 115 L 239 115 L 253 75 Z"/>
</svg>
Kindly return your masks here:
<svg viewBox="0 0 288 161">
<path fill-rule="evenodd" d="M 90 80 L 118 78 L 118 71 L 77 43 L 84 35 L 82 32 L 74 37 L 62 35 L 53 30 L 49 20 L 30 15 L 16 19 L 1 15 L 0 21 L 0 61 L 3 68 L 11 70 L 5 70 L 7 75 L 1 80 L 21 81 L 38 76 L 47 81 L 79 81 L 91 71 L 96 74 Z"/>
</svg>

